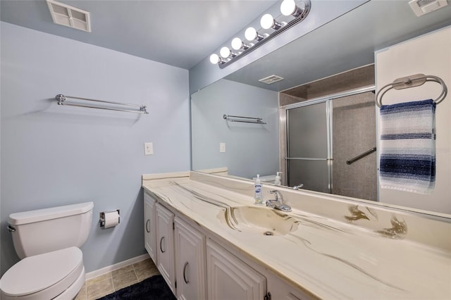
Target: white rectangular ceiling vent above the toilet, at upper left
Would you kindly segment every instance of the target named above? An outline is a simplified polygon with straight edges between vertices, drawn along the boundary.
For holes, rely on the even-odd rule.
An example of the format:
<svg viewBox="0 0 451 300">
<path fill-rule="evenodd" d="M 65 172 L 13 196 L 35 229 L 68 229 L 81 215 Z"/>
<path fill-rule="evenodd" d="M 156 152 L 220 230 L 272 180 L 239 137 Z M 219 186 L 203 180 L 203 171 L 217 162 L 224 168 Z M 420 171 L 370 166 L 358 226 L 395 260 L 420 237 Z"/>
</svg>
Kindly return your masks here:
<svg viewBox="0 0 451 300">
<path fill-rule="evenodd" d="M 91 32 L 89 12 L 54 0 L 47 0 L 54 23 Z"/>
</svg>

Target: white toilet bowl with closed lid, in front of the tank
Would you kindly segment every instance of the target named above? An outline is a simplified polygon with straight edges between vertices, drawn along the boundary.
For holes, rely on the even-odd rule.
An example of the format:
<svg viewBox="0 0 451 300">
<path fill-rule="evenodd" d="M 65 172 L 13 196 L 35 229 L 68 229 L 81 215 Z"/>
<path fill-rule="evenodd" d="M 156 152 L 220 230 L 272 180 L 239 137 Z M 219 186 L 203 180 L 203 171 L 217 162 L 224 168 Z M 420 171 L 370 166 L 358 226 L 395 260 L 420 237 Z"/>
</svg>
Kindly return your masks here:
<svg viewBox="0 0 451 300">
<path fill-rule="evenodd" d="M 84 271 L 82 251 L 77 247 L 29 256 L 1 277 L 1 299 L 53 299 Z"/>
</svg>

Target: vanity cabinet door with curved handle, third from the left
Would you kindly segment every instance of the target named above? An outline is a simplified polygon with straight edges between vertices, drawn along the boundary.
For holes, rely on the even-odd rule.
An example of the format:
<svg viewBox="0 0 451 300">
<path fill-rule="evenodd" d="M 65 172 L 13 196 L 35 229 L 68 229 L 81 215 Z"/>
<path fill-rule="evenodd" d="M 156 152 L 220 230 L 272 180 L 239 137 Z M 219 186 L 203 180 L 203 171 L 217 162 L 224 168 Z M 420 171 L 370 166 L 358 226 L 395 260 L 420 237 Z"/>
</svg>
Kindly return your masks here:
<svg viewBox="0 0 451 300">
<path fill-rule="evenodd" d="M 175 218 L 175 277 L 177 298 L 206 299 L 205 236 Z"/>
</svg>

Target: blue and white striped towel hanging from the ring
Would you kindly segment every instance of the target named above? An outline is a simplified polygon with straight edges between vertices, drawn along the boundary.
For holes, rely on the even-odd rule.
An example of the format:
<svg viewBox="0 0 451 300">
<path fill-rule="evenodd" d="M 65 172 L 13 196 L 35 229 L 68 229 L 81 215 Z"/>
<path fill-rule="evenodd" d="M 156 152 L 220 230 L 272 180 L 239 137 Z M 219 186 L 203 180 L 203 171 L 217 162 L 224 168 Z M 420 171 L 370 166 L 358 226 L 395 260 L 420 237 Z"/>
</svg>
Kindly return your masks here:
<svg viewBox="0 0 451 300">
<path fill-rule="evenodd" d="M 430 194 L 435 186 L 435 102 L 381 106 L 383 189 Z"/>
</svg>

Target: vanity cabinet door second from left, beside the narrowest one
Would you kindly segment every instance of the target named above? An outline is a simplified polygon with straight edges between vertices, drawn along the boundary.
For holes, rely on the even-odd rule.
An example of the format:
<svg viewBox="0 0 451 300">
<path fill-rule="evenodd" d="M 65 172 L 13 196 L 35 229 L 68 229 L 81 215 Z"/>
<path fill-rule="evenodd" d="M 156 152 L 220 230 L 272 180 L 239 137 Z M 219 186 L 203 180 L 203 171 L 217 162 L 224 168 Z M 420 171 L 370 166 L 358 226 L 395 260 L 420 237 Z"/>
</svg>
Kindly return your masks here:
<svg viewBox="0 0 451 300">
<path fill-rule="evenodd" d="M 161 204 L 156 204 L 156 265 L 175 294 L 173 223 L 173 213 Z"/>
</svg>

